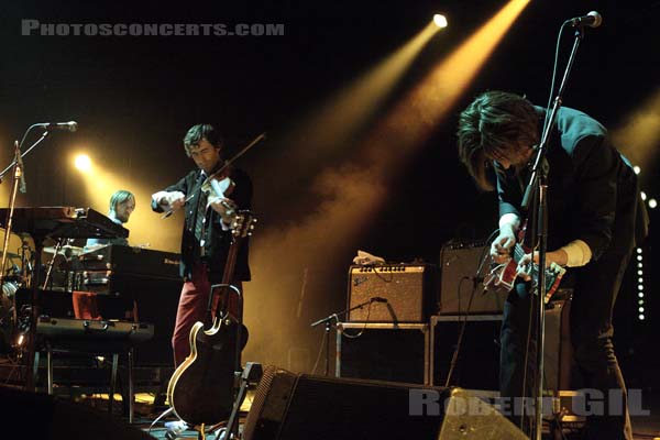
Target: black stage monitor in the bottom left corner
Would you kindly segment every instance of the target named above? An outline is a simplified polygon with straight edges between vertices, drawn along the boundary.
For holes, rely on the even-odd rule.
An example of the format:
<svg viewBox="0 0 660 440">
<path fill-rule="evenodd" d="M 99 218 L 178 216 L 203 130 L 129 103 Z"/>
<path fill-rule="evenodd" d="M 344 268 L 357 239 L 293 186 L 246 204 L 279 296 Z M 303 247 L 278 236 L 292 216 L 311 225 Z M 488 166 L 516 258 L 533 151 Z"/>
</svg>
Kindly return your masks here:
<svg viewBox="0 0 660 440">
<path fill-rule="evenodd" d="M 0 386 L 3 439 L 153 440 L 146 432 L 82 404 Z"/>
</svg>

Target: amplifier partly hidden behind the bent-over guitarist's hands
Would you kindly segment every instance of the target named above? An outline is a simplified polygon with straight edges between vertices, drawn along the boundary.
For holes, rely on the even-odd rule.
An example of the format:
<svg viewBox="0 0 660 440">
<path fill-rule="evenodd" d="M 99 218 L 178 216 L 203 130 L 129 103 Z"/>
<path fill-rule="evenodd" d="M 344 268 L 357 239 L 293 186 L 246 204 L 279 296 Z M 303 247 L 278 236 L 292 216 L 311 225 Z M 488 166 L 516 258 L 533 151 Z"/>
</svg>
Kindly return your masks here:
<svg viewBox="0 0 660 440">
<path fill-rule="evenodd" d="M 440 253 L 440 315 L 502 314 L 508 293 L 484 290 L 481 283 L 490 270 L 488 248 L 482 242 L 449 242 Z M 472 298 L 471 298 L 472 297 Z"/>
</svg>

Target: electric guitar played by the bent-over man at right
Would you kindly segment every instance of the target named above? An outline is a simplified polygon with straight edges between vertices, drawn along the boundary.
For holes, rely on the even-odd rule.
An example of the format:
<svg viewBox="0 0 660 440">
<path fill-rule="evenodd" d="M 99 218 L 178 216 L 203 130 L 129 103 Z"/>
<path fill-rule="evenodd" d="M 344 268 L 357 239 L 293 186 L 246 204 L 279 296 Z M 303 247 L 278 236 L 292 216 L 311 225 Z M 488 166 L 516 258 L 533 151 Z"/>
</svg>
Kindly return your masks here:
<svg viewBox="0 0 660 440">
<path fill-rule="evenodd" d="M 491 261 L 491 271 L 484 277 L 484 288 L 493 288 L 498 292 L 510 292 L 514 288 L 514 283 L 518 276 L 518 263 L 527 252 L 527 250 L 520 244 L 525 229 L 520 232 L 519 242 L 515 244 L 512 258 L 506 263 L 495 263 Z M 566 273 L 566 270 L 557 263 L 550 264 L 546 267 L 546 297 L 543 301 L 548 304 L 552 295 L 559 288 L 561 278 Z M 539 265 L 537 263 L 529 263 L 529 276 L 531 277 L 531 290 L 535 295 L 538 295 L 538 274 Z"/>
</svg>

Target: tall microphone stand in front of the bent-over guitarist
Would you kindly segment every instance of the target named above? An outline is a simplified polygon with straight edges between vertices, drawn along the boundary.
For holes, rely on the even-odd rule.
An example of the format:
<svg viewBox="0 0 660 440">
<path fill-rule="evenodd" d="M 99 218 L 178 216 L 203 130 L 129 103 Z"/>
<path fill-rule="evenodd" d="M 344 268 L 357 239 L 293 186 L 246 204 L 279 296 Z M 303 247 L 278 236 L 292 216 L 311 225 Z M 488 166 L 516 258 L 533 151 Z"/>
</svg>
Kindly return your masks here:
<svg viewBox="0 0 660 440">
<path fill-rule="evenodd" d="M 571 68 L 573 67 L 573 63 L 575 61 L 575 54 L 578 53 L 578 47 L 580 46 L 580 42 L 584 37 L 584 29 L 583 26 L 576 26 L 575 29 L 575 40 L 573 42 L 573 48 L 571 50 L 571 56 L 569 57 L 569 62 L 566 63 L 566 67 L 564 70 L 564 75 L 561 80 L 561 85 L 557 92 L 557 97 L 554 98 L 552 110 L 550 112 L 550 117 L 547 117 L 546 124 L 543 127 L 543 133 L 541 136 L 541 142 L 537 148 L 536 158 L 534 161 L 534 165 L 531 168 L 531 175 L 529 178 L 529 183 L 527 185 L 527 189 L 525 190 L 525 196 L 522 198 L 521 208 L 527 210 L 530 205 L 530 198 L 534 193 L 538 193 L 538 204 L 537 204 L 537 224 L 534 226 L 536 228 L 537 235 L 537 245 L 538 245 L 538 274 L 537 274 L 537 297 L 536 297 L 536 307 L 537 307 L 537 323 L 538 329 L 536 332 L 536 375 L 535 375 L 535 394 L 536 394 L 536 405 L 535 405 L 535 425 L 534 425 L 534 438 L 536 440 L 541 440 L 541 428 L 543 425 L 542 419 L 542 403 L 543 403 L 543 351 L 544 351 L 544 331 L 546 331 L 546 314 L 544 314 L 544 300 L 546 298 L 546 253 L 547 253 L 547 241 L 548 241 L 548 201 L 547 201 L 547 193 L 548 193 L 548 167 L 543 166 L 544 157 L 548 150 L 548 142 L 550 139 L 550 132 L 552 130 L 552 125 L 557 120 L 557 113 L 559 108 L 562 105 L 562 96 L 564 88 L 566 86 L 566 80 L 569 78 L 569 74 Z M 532 233 L 534 237 L 534 233 Z M 534 257 L 534 249 L 532 248 L 532 257 Z M 534 262 L 534 258 L 532 258 Z M 534 287 L 532 287 L 534 289 Z M 532 301 L 532 304 L 535 304 Z M 527 367 L 527 365 L 525 365 Z"/>
</svg>

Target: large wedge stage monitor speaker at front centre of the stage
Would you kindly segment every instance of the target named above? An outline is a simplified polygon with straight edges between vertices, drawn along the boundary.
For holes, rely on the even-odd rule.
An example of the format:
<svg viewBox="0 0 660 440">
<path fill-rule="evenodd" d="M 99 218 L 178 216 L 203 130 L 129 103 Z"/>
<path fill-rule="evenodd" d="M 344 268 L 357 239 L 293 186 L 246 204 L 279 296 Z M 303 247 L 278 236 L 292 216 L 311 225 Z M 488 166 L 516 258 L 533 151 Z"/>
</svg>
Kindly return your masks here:
<svg viewBox="0 0 660 440">
<path fill-rule="evenodd" d="M 495 408 L 462 388 L 294 374 L 267 367 L 244 440 L 521 440 Z"/>
</svg>

